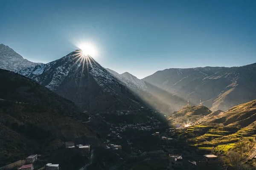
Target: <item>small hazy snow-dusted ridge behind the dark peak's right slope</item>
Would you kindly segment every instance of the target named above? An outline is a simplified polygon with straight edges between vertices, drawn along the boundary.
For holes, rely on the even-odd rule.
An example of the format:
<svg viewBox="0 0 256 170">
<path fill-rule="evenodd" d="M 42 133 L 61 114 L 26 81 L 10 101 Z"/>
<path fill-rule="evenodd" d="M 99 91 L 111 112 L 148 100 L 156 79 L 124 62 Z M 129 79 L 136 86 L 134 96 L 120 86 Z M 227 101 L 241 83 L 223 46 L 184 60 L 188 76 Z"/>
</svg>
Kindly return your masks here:
<svg viewBox="0 0 256 170">
<path fill-rule="evenodd" d="M 138 79 L 128 72 L 118 74 L 116 71 L 109 68 L 106 68 L 106 70 L 133 91 L 145 91 L 147 89 L 144 80 Z"/>
</svg>

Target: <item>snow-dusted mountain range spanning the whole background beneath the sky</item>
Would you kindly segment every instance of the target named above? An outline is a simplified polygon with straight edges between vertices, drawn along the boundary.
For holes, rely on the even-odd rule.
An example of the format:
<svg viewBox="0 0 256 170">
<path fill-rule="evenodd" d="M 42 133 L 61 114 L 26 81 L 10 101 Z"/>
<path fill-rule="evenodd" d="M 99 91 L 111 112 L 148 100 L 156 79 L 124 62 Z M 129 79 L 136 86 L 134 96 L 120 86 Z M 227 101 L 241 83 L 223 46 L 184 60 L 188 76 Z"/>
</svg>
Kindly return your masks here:
<svg viewBox="0 0 256 170">
<path fill-rule="evenodd" d="M 191 105 L 201 100 L 212 111 L 227 111 L 256 99 L 256 63 L 231 68 L 170 68 L 137 79 L 127 72 L 105 69 L 93 58 L 83 69 L 77 62 L 79 53 L 73 51 L 42 64 L 29 62 L 1 44 L 0 68 L 34 79 L 88 111 L 136 110 L 148 103 L 169 114 L 186 106 L 187 100 Z"/>
</svg>

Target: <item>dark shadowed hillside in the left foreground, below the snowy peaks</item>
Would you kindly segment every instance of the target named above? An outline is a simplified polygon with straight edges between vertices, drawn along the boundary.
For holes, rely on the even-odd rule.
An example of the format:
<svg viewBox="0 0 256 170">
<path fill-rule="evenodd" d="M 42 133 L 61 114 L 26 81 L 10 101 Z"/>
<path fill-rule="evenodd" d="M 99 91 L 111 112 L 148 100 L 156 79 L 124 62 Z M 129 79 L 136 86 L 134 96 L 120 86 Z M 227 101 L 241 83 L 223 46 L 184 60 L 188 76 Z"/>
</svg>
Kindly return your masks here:
<svg viewBox="0 0 256 170">
<path fill-rule="evenodd" d="M 73 102 L 12 71 L 0 69 L 0 82 L 0 166 L 31 153 L 48 158 L 65 141 L 100 142 Z"/>
</svg>

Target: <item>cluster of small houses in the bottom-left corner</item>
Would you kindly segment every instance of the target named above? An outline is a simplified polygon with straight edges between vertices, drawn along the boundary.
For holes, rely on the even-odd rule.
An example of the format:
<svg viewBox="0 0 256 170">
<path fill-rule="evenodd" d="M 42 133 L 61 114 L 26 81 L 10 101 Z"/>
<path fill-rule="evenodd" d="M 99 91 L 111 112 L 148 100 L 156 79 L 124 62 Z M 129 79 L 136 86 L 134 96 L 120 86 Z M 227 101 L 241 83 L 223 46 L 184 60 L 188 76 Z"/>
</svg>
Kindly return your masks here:
<svg viewBox="0 0 256 170">
<path fill-rule="evenodd" d="M 34 164 L 38 160 L 38 155 L 30 155 L 25 159 L 25 165 L 17 168 L 18 170 L 33 170 Z M 41 170 L 59 170 L 59 164 L 48 163 L 44 167 L 40 168 Z"/>
</svg>

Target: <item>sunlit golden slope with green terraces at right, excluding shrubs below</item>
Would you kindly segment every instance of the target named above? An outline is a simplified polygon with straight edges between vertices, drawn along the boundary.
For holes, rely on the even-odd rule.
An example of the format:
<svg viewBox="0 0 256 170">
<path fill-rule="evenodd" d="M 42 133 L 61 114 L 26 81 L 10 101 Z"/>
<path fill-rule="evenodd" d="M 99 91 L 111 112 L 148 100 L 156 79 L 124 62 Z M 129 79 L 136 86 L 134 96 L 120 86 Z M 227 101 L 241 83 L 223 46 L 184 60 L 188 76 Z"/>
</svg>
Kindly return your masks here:
<svg viewBox="0 0 256 170">
<path fill-rule="evenodd" d="M 227 112 L 213 113 L 200 119 L 206 120 L 201 125 L 186 129 L 189 144 L 199 150 L 227 153 L 236 147 L 237 142 L 255 142 L 256 100 L 230 108 Z"/>
</svg>

